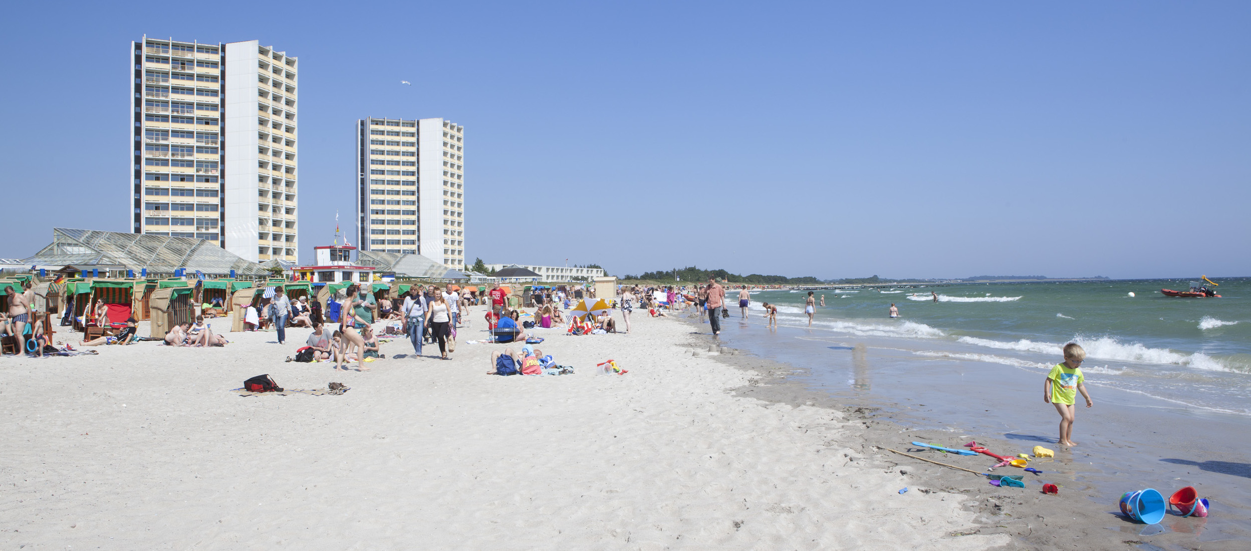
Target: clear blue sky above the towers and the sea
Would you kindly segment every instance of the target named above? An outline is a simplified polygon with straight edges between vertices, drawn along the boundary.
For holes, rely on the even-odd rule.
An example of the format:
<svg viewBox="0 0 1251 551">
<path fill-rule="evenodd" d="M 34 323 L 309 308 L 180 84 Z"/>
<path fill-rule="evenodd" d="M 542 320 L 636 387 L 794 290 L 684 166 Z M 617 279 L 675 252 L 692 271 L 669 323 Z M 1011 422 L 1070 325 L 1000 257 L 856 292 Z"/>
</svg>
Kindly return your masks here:
<svg viewBox="0 0 1251 551">
<path fill-rule="evenodd" d="M 1251 2 L 109 4 L 6 7 L 3 257 L 128 231 L 146 32 L 300 59 L 303 260 L 354 121 L 442 116 L 470 261 L 1251 274 Z"/>
</svg>

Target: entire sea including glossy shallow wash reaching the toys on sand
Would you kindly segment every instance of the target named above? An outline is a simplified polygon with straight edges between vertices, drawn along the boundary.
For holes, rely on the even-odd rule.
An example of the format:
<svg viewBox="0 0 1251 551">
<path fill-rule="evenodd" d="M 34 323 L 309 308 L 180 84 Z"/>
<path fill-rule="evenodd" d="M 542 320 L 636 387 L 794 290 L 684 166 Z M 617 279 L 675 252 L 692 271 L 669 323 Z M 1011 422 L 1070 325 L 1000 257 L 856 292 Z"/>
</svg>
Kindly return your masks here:
<svg viewBox="0 0 1251 551">
<path fill-rule="evenodd" d="M 743 320 L 727 289 L 733 317 L 721 341 L 807 369 L 802 384 L 844 404 L 883 404 L 904 426 L 950 431 L 951 446 L 966 435 L 1018 442 L 1010 455 L 1057 449 L 1058 415 L 1042 386 L 1063 345 L 1077 342 L 1096 405 L 1077 397 L 1082 445 L 1061 454 L 1063 469 L 1110 510 L 1127 490 L 1195 485 L 1225 510 L 1201 540 L 1251 539 L 1251 279 L 1218 279 L 1220 299 L 1160 294 L 1188 281 L 817 290 L 811 329 L 807 292 L 752 292 Z M 762 302 L 778 306 L 777 331 L 764 327 Z"/>
</svg>

